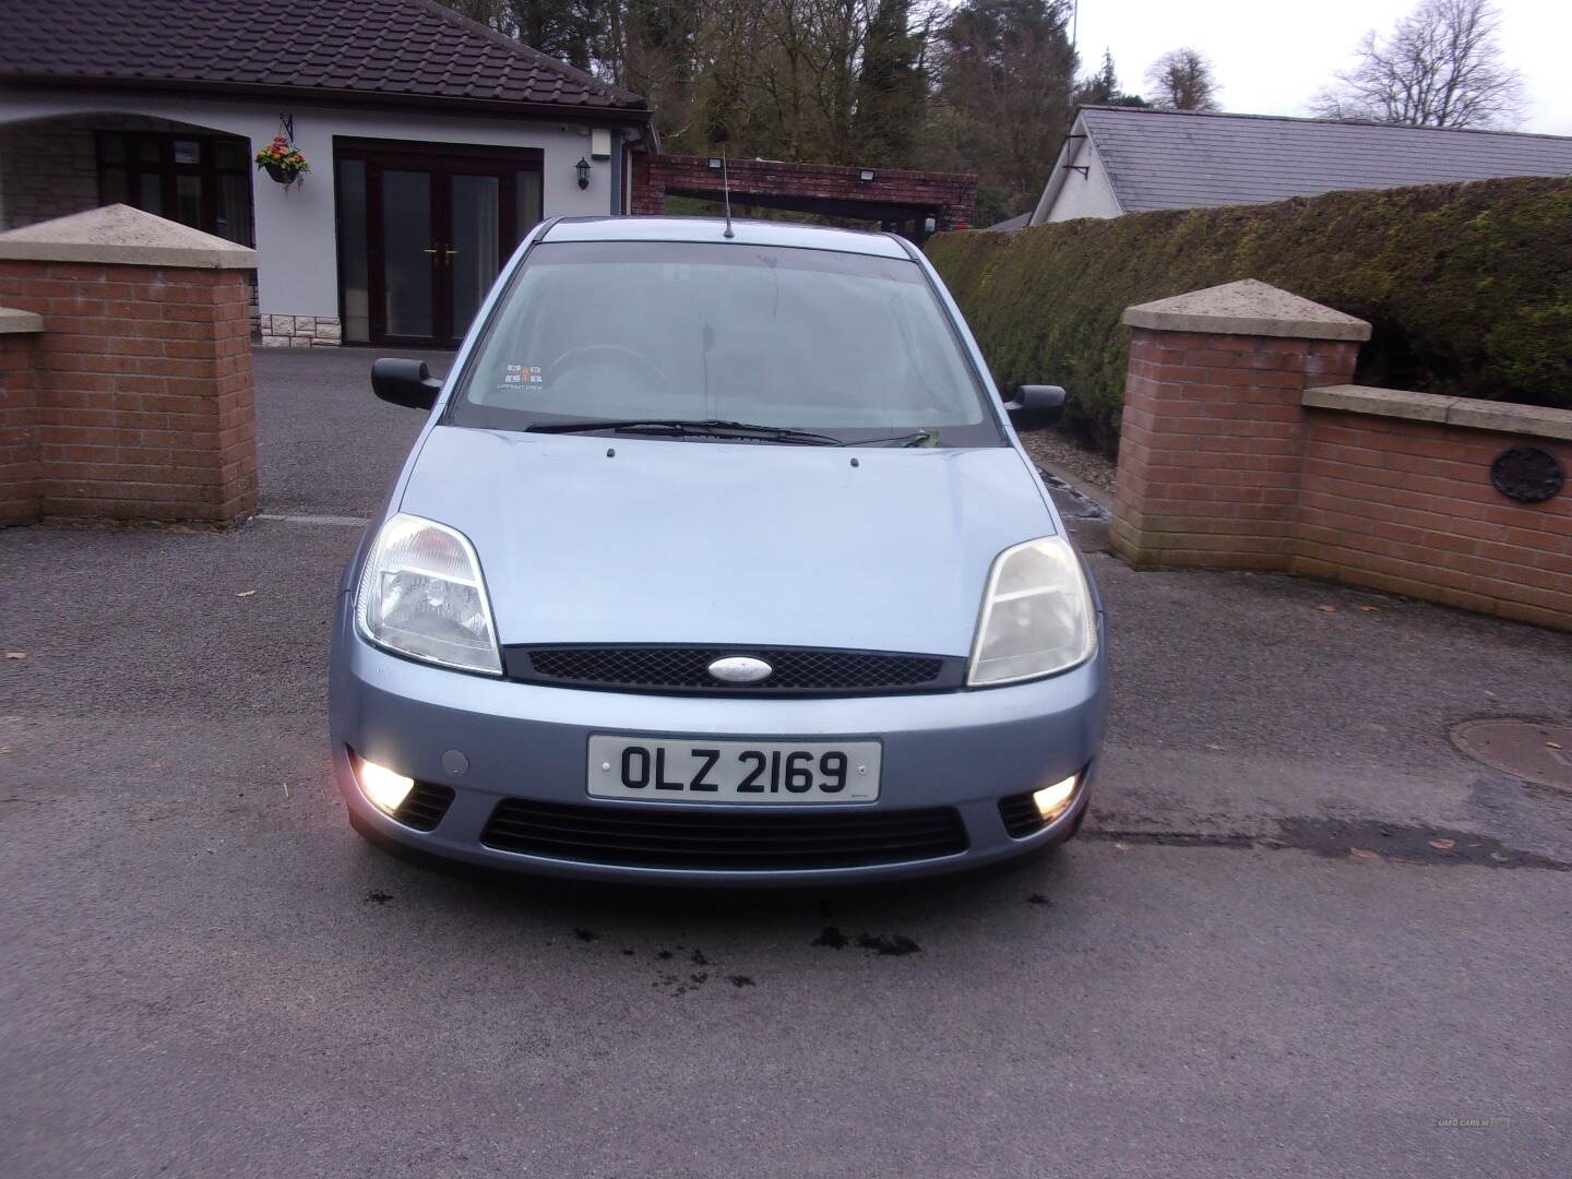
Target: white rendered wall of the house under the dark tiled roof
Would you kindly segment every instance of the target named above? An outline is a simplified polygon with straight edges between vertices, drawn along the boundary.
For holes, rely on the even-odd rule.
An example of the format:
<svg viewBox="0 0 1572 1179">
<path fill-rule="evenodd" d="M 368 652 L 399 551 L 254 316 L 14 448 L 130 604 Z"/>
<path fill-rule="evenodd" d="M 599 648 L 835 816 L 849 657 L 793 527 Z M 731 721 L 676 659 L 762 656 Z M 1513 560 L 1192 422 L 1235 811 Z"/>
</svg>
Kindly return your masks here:
<svg viewBox="0 0 1572 1179">
<path fill-rule="evenodd" d="M 149 115 L 245 135 L 252 151 L 278 134 L 278 113 L 294 116 L 294 141 L 311 173 L 285 192 L 266 173 L 252 173 L 256 211 L 258 308 L 263 314 L 338 316 L 338 247 L 333 236 L 333 137 L 539 148 L 542 211 L 608 214 L 615 208 L 613 160 L 591 160 L 590 187 L 574 165 L 590 159 L 593 124 L 539 123 L 369 107 L 281 105 L 223 99 L 160 97 L 132 91 L 0 90 L 0 124 L 57 115 Z M 610 124 L 607 124 L 610 126 Z M 621 151 L 613 135 L 613 151 Z M 624 168 L 630 171 L 629 168 Z"/>
</svg>

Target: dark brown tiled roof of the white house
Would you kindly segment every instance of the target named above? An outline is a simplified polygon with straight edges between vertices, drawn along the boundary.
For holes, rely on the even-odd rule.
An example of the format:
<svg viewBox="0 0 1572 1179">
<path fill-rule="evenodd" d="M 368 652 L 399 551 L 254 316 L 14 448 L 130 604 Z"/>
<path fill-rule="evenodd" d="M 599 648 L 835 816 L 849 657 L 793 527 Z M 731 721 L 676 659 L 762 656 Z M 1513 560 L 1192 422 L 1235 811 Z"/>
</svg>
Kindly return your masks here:
<svg viewBox="0 0 1572 1179">
<path fill-rule="evenodd" d="M 641 108 L 435 0 L 0 0 L 0 80 Z"/>
</svg>

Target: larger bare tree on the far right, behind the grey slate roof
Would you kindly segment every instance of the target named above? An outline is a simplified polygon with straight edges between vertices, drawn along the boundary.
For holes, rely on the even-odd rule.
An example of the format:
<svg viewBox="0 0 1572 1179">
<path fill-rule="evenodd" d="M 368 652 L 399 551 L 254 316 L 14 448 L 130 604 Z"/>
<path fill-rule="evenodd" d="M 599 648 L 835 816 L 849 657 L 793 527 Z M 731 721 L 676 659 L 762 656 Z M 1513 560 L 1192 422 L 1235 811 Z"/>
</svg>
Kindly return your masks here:
<svg viewBox="0 0 1572 1179">
<path fill-rule="evenodd" d="M 1371 30 L 1358 64 L 1309 107 L 1322 118 L 1415 127 L 1514 126 L 1523 82 L 1501 58 L 1490 0 L 1421 0 L 1385 41 Z"/>
</svg>

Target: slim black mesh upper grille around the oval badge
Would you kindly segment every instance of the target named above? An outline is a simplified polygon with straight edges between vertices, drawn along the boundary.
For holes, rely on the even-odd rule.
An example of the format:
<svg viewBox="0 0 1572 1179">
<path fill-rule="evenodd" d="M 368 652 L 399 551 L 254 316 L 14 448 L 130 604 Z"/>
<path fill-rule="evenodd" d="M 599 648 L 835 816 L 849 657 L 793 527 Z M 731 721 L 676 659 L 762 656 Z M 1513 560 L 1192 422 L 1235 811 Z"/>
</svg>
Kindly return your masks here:
<svg viewBox="0 0 1572 1179">
<path fill-rule="evenodd" d="M 755 656 L 773 671 L 756 684 L 723 684 L 709 665 Z M 722 646 L 511 646 L 509 679 L 621 692 L 736 695 L 872 695 L 959 689 L 965 659 L 885 651 Z"/>
</svg>

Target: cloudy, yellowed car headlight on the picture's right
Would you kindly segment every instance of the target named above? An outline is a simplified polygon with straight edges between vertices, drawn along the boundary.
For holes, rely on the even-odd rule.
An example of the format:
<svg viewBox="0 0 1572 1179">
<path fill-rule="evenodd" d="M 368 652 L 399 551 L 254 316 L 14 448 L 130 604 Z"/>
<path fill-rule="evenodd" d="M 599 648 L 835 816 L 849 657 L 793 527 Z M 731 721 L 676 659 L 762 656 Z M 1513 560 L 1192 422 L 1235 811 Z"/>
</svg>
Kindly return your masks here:
<svg viewBox="0 0 1572 1179">
<path fill-rule="evenodd" d="M 967 684 L 1036 679 L 1091 659 L 1097 646 L 1091 588 L 1063 536 L 1044 536 L 994 558 Z"/>
</svg>

